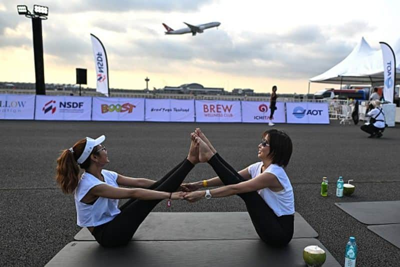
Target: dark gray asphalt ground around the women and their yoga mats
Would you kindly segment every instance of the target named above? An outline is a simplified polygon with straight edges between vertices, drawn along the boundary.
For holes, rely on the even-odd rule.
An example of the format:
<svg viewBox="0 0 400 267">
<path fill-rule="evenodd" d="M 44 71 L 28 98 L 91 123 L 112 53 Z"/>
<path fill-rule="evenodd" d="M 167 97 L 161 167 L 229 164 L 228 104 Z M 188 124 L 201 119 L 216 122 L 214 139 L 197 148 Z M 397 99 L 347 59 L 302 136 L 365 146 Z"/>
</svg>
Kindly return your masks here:
<svg viewBox="0 0 400 267">
<path fill-rule="evenodd" d="M 43 266 L 79 231 L 73 196 L 54 181 L 55 160 L 76 140 L 105 134 L 107 169 L 133 177 L 160 178 L 187 155 L 189 132 L 207 134 L 218 152 L 236 169 L 257 161 L 257 145 L 266 124 L 0 121 L 0 265 Z M 386 128 L 380 139 L 366 138 L 359 125 L 276 124 L 293 142 L 286 172 L 295 209 L 318 232 L 318 239 L 344 265 L 348 236 L 356 237 L 357 266 L 398 266 L 400 249 L 375 235 L 334 205 L 344 201 L 400 200 L 400 127 Z M 355 193 L 337 198 L 337 176 L 353 179 Z M 214 176 L 201 163 L 186 177 Z M 319 195 L 322 176 L 328 196 Z M 161 201 L 154 211 L 245 211 L 237 196 L 188 203 Z M 393 212 L 399 212 L 393 210 Z"/>
</svg>

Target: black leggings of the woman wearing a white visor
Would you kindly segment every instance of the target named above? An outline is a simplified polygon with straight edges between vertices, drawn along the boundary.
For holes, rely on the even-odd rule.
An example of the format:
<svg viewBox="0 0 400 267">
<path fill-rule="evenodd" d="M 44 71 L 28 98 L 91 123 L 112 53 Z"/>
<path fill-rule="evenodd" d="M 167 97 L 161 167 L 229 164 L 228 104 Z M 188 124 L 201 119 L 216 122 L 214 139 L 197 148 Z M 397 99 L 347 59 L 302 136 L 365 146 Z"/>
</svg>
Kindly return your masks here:
<svg viewBox="0 0 400 267">
<path fill-rule="evenodd" d="M 189 160 L 184 159 L 148 189 L 165 192 L 176 191 L 193 166 Z M 161 199 L 129 199 L 119 207 L 121 212 L 111 221 L 95 226 L 92 235 L 99 244 L 105 247 L 127 244 L 136 229 L 159 201 Z"/>
</svg>

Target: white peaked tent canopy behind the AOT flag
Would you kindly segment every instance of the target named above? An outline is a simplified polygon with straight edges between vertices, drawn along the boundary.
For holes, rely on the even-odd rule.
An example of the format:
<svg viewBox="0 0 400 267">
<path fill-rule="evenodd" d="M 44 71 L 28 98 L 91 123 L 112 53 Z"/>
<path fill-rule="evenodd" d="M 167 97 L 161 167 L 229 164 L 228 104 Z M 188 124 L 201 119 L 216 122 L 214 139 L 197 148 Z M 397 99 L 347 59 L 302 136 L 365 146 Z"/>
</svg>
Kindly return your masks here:
<svg viewBox="0 0 400 267">
<path fill-rule="evenodd" d="M 400 74 L 400 39 L 392 46 L 396 60 L 396 73 Z M 354 49 L 335 66 L 322 74 L 309 79 L 321 83 L 351 83 L 383 85 L 383 59 L 380 49 L 372 49 L 361 38 Z M 396 84 L 400 83 L 400 75 L 396 75 Z"/>
</svg>

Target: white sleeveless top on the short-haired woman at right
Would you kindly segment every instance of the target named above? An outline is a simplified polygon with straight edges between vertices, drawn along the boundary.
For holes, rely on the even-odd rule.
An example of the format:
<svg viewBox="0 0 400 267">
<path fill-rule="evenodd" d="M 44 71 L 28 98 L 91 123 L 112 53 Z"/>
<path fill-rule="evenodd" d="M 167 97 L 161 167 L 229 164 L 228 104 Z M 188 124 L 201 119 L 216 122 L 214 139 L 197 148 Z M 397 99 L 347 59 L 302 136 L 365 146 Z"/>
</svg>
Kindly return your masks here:
<svg viewBox="0 0 400 267">
<path fill-rule="evenodd" d="M 262 161 L 248 166 L 248 173 L 251 178 L 261 174 Z M 264 172 L 272 173 L 276 176 L 283 189 L 277 192 L 268 187 L 260 189 L 258 193 L 264 199 L 265 203 L 273 210 L 276 216 L 294 214 L 294 194 L 289 177 L 284 169 L 276 164 L 270 164 Z"/>
</svg>

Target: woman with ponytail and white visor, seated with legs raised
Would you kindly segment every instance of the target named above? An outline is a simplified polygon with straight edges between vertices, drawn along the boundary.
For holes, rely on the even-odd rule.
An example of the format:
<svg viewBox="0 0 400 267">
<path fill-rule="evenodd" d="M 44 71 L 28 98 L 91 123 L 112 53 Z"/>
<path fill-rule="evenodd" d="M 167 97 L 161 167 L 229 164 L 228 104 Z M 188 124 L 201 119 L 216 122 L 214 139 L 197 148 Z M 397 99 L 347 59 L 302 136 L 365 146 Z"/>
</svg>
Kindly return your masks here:
<svg viewBox="0 0 400 267">
<path fill-rule="evenodd" d="M 101 145 L 104 139 L 104 135 L 86 137 L 63 150 L 57 159 L 55 178 L 64 193 L 74 193 L 77 224 L 87 227 L 99 244 L 109 247 L 126 244 L 161 199 L 169 198 L 169 203 L 170 199 L 183 199 L 185 193 L 175 191 L 198 162 L 198 143 L 192 138 L 187 157 L 163 178 L 153 181 L 103 169 L 109 162 L 107 150 Z M 80 169 L 84 172 L 79 178 Z M 118 208 L 121 198 L 130 199 Z"/>
</svg>

